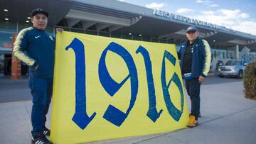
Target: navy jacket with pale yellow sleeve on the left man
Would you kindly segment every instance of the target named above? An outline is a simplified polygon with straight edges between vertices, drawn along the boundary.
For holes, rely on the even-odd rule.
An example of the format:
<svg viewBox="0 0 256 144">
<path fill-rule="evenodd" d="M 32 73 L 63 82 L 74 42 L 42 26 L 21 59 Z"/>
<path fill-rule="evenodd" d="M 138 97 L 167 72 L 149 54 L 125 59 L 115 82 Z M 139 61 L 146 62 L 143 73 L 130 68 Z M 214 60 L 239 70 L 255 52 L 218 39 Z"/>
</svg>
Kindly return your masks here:
<svg viewBox="0 0 256 144">
<path fill-rule="evenodd" d="M 14 43 L 14 56 L 28 65 L 34 77 L 53 78 L 54 52 L 55 38 L 33 27 L 18 33 Z"/>
</svg>

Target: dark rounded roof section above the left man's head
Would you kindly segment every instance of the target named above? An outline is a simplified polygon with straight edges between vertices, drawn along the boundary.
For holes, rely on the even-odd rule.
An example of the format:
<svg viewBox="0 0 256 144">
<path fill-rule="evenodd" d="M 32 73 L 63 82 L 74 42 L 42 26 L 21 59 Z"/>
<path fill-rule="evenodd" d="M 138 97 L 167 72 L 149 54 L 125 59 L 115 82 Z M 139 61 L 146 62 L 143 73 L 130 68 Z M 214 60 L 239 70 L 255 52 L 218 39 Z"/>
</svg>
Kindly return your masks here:
<svg viewBox="0 0 256 144">
<path fill-rule="evenodd" d="M 33 9 L 42 8 L 49 13 L 48 26 L 55 26 L 68 13 L 70 6 L 72 2 L 68 0 L 1 0 L 0 19 L 8 17 L 9 21 L 26 23 Z M 8 13 L 3 9 L 8 9 Z"/>
</svg>

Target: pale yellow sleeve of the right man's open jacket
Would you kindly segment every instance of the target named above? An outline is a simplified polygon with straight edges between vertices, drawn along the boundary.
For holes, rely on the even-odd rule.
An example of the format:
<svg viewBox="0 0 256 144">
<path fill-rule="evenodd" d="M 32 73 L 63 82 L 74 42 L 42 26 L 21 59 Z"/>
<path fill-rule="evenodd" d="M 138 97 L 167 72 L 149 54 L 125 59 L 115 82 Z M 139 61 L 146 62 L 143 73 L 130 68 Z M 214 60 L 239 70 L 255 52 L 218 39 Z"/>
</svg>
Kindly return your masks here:
<svg viewBox="0 0 256 144">
<path fill-rule="evenodd" d="M 210 52 L 210 45 L 206 40 L 203 40 L 203 45 L 205 45 L 205 50 L 206 50 L 206 62 L 205 62 L 205 67 L 203 69 L 203 74 L 207 76 L 208 72 L 210 71 L 211 52 Z"/>
</svg>

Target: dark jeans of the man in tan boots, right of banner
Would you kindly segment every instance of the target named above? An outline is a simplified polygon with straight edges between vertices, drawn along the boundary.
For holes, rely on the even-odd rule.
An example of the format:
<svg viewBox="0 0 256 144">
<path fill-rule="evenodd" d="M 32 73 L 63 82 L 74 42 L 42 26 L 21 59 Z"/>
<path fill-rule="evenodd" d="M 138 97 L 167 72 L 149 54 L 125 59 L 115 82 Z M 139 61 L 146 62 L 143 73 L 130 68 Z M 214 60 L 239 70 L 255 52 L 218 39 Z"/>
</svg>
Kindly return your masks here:
<svg viewBox="0 0 256 144">
<path fill-rule="evenodd" d="M 198 78 L 185 80 L 186 90 L 188 96 L 191 99 L 191 116 L 195 116 L 198 119 L 200 113 L 200 87 L 201 83 L 198 82 Z"/>
</svg>

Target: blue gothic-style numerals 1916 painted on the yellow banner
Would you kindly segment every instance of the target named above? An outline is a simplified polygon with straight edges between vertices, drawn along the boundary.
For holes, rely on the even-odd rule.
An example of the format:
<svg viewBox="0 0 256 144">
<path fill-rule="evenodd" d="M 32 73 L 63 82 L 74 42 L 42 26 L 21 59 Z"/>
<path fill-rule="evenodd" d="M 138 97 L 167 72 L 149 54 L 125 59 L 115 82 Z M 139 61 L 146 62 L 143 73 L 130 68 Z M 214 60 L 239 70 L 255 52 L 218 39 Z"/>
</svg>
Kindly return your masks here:
<svg viewBox="0 0 256 144">
<path fill-rule="evenodd" d="M 74 38 L 70 45 L 68 45 L 65 48 L 65 50 L 68 50 L 69 48 L 72 48 L 75 52 L 75 114 L 73 116 L 73 121 L 81 129 L 85 129 L 86 126 L 92 121 L 92 119 L 96 115 L 96 113 L 94 112 L 92 113 L 92 116 L 88 116 L 86 112 L 85 46 L 80 40 L 78 40 L 78 38 Z M 122 57 L 122 59 L 127 65 L 129 74 L 120 83 L 114 81 L 114 79 L 112 79 L 110 73 L 107 70 L 105 61 L 107 52 L 114 52 L 115 54 L 119 55 L 120 57 Z M 142 56 L 144 57 L 144 65 L 146 67 L 146 79 L 149 94 L 149 109 L 146 113 L 146 116 L 148 116 L 151 119 L 151 121 L 156 122 L 156 120 L 159 118 L 163 110 L 161 109 L 160 111 L 157 111 L 156 109 L 156 94 L 149 52 L 142 46 L 139 46 L 136 53 L 142 54 Z M 164 94 L 164 101 L 170 116 L 174 118 L 175 121 L 179 121 L 183 113 L 183 88 L 181 85 L 181 80 L 178 78 L 178 74 L 176 74 L 176 72 L 174 72 L 168 84 L 166 83 L 166 59 L 169 60 L 169 62 L 171 62 L 172 65 L 176 65 L 176 58 L 173 55 L 171 55 L 170 52 L 165 51 L 161 66 L 161 84 Z M 117 109 L 117 107 L 112 106 L 110 104 L 103 115 L 103 118 L 105 118 L 107 121 L 110 121 L 110 123 L 113 123 L 115 126 L 121 126 L 127 118 L 127 116 L 129 115 L 130 111 L 132 111 L 138 93 L 138 74 L 132 55 L 130 55 L 129 52 L 122 47 L 122 45 L 119 45 L 114 42 L 110 43 L 110 45 L 108 45 L 107 48 L 105 48 L 105 50 L 102 52 L 102 55 L 100 57 L 98 65 L 98 74 L 102 87 L 110 96 L 114 96 L 114 94 L 116 94 L 116 92 L 118 92 L 119 89 L 121 89 L 122 85 L 125 82 L 127 82 L 128 79 L 130 80 L 131 99 L 127 111 L 124 113 L 123 111 Z M 178 110 L 171 101 L 168 90 L 171 82 L 174 82 L 174 84 L 176 84 L 176 86 L 178 87 L 181 96 L 181 111 Z"/>
</svg>

